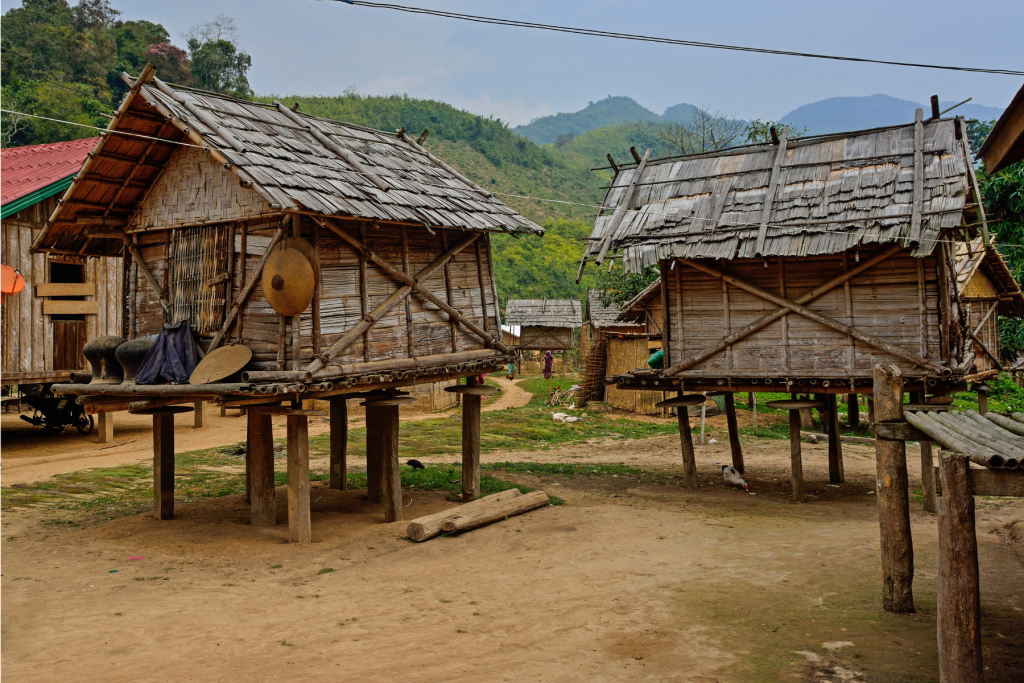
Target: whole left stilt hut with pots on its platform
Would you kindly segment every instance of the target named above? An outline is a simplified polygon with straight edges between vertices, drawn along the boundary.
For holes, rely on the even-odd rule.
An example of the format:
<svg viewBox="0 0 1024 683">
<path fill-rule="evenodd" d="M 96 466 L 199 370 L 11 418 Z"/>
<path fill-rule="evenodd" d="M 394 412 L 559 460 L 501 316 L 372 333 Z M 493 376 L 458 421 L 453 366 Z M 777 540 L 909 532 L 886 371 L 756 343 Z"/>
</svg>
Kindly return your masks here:
<svg viewBox="0 0 1024 683">
<path fill-rule="evenodd" d="M 122 255 L 128 338 L 188 321 L 200 354 L 241 344 L 252 360 L 241 375 L 213 383 L 54 389 L 79 395 L 93 412 L 155 414 L 159 518 L 173 515 L 168 412 L 181 410 L 176 404 L 248 409 L 248 495 L 258 525 L 276 521 L 269 416 L 289 416 L 289 535 L 297 541 L 310 533 L 312 413 L 301 401 L 331 400 L 331 486 L 345 488 L 346 399 L 362 398 L 368 496 L 383 501 L 385 519 L 401 519 L 397 411 L 413 398 L 399 388 L 470 378 L 512 358 L 501 340 L 489 233 L 542 228 L 404 130 L 171 87 L 148 67 L 123 78 L 130 91 L 35 251 Z M 272 279 L 274 290 L 292 282 L 311 289 L 311 303 L 285 316 L 270 305 L 268 295 L 278 294 L 263 289 L 262 275 L 275 247 L 299 238 L 312 254 L 304 267 L 315 265 L 319 276 Z M 485 387 L 467 384 L 451 388 L 467 394 L 463 493 L 473 498 Z"/>
</svg>

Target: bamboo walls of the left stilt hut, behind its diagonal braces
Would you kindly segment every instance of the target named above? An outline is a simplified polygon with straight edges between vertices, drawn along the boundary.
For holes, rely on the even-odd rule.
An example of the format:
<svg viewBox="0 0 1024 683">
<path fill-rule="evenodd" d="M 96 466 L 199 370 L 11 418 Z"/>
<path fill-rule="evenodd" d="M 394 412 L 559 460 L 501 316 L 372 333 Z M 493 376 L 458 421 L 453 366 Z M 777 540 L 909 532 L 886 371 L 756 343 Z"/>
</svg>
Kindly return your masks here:
<svg viewBox="0 0 1024 683">
<path fill-rule="evenodd" d="M 281 218 L 248 221 L 244 256 L 241 254 L 243 225 L 245 225 L 243 221 L 236 223 L 231 299 L 237 297 L 245 286 L 243 270 L 247 280 L 255 272 L 273 233 L 281 225 Z M 401 267 L 408 255 L 409 270 L 414 274 L 440 256 L 449 247 L 465 238 L 465 232 L 461 230 L 435 229 L 435 234 L 432 236 L 422 226 L 410 227 L 406 230 L 403 249 L 402 229 L 398 226 L 373 227 L 352 221 L 346 223 L 344 229 L 356 238 L 359 238 L 361 230 L 365 244 L 396 267 Z M 302 218 L 300 231 L 301 237 L 316 248 L 321 263 L 321 285 L 314 300 L 318 302 L 314 305 L 319 309 L 319 315 L 315 319 L 317 332 L 315 348 L 314 306 L 307 308 L 299 322 L 301 362 L 305 365 L 312 359 L 314 352 L 326 350 L 346 331 L 354 327 L 366 312 L 373 310 L 401 285 L 372 262 L 364 261 L 360 253 L 342 242 L 336 234 L 318 228 L 306 217 Z M 174 294 L 172 279 L 167 268 L 168 254 L 171 251 L 168 244 L 172 232 L 173 230 L 155 230 L 139 234 L 139 251 L 142 258 L 157 282 L 169 293 L 169 298 Z M 458 254 L 446 268 L 439 269 L 424 281 L 423 287 L 445 299 L 447 285 L 451 284 L 451 305 L 497 336 L 499 318 L 490 274 L 489 243 L 486 237 L 483 237 L 477 244 L 479 250 L 471 245 Z M 215 257 L 211 255 L 209 258 Z M 159 333 L 163 325 L 163 309 L 137 268 L 132 268 L 129 284 L 133 293 L 130 297 L 133 303 L 131 334 L 142 337 Z M 220 289 L 222 286 L 215 287 Z M 220 299 L 223 297 L 220 296 Z M 406 305 L 398 303 L 370 328 L 366 335 L 366 345 L 362 340 L 356 341 L 335 361 L 350 364 L 385 360 L 483 348 L 482 340 L 463 327 L 453 326 L 447 315 L 435 305 L 415 294 L 408 300 L 410 302 L 408 313 Z M 256 285 L 239 318 L 232 326 L 231 338 L 240 339 L 252 349 L 254 367 L 275 367 L 281 323 L 278 313 L 264 298 L 261 285 Z M 196 321 L 190 323 L 196 327 Z M 213 333 L 210 332 L 205 338 L 212 336 Z M 293 360 L 291 325 L 287 327 L 285 347 L 285 355 L 291 367 Z"/>
</svg>

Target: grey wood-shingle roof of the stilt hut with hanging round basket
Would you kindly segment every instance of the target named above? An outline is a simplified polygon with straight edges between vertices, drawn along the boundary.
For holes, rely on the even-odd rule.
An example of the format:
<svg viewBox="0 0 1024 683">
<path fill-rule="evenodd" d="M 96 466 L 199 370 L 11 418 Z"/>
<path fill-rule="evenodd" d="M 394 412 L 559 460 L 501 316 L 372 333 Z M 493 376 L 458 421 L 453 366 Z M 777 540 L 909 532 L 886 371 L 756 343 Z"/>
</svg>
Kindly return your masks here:
<svg viewBox="0 0 1024 683">
<path fill-rule="evenodd" d="M 110 224 L 127 221 L 131 229 L 140 201 L 182 150 L 226 167 L 272 211 L 430 228 L 543 232 L 403 131 L 377 131 L 171 87 L 148 68 L 108 130 L 35 248 L 78 252 L 84 246 L 86 254 L 119 253 L 120 241 L 93 238 L 87 245 L 85 228 L 76 221 L 105 216 L 114 219 Z"/>
</svg>

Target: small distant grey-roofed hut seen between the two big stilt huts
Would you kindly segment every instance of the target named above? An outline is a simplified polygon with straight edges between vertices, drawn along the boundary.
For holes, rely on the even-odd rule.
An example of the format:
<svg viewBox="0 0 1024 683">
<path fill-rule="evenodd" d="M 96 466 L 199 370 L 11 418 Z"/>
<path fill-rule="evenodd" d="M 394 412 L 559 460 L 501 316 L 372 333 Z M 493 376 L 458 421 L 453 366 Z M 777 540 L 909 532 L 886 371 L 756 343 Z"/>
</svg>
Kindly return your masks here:
<svg viewBox="0 0 1024 683">
<path fill-rule="evenodd" d="M 564 373 L 566 353 L 575 348 L 574 331 L 583 324 L 583 305 L 580 299 L 509 299 L 505 324 L 519 326 L 519 349 L 560 353 Z"/>
</svg>

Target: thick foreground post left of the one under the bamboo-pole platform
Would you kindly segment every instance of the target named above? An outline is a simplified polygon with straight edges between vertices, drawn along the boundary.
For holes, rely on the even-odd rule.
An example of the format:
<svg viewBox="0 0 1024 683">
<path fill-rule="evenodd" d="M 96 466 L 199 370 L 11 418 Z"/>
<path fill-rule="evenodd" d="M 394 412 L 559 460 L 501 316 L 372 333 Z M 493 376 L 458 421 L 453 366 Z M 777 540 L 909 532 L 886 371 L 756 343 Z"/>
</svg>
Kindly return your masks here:
<svg viewBox="0 0 1024 683">
<path fill-rule="evenodd" d="M 874 367 L 877 422 L 902 422 L 903 377 L 898 367 Z M 910 537 L 906 444 L 874 436 L 876 493 L 882 542 L 882 606 L 886 611 L 913 611 L 913 541 Z"/>
</svg>

